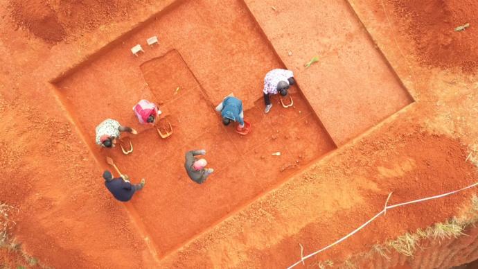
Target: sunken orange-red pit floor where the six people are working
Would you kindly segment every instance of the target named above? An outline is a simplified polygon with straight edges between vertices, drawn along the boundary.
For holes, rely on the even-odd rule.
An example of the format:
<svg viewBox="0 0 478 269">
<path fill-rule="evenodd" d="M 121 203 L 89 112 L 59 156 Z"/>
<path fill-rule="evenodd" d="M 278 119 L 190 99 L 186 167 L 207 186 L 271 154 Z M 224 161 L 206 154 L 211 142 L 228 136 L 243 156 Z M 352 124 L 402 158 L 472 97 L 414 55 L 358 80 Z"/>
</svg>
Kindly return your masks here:
<svg viewBox="0 0 478 269">
<path fill-rule="evenodd" d="M 281 65 L 245 7 L 238 3 L 236 8 L 227 8 L 225 17 L 211 12 L 192 19 L 195 10 L 208 12 L 203 5 L 210 4 L 191 1 L 178 6 L 55 83 L 57 94 L 100 162 L 113 157 L 123 173 L 136 181 L 147 180 L 131 203 L 160 255 L 335 148 L 296 86 L 290 89 L 292 107 L 282 107 L 274 96 L 271 112 L 264 114 L 260 76 L 265 76 L 267 69 L 255 62 Z M 224 31 L 233 18 L 241 18 L 241 27 L 247 30 L 240 35 L 234 28 Z M 211 33 L 203 37 L 211 20 L 222 27 L 209 29 Z M 186 33 L 187 40 L 183 38 Z M 134 57 L 128 48 L 151 35 L 159 35 L 160 44 L 145 47 L 144 53 Z M 211 37 L 257 44 L 254 50 L 237 50 Z M 220 77 L 220 73 L 228 75 Z M 255 83 L 235 87 L 239 81 Z M 245 119 L 252 124 L 245 136 L 235 132 L 235 123 L 222 125 L 214 110 L 231 92 L 243 100 Z M 161 139 L 156 128 L 139 125 L 132 107 L 141 98 L 159 104 L 172 125 L 170 137 Z M 106 149 L 94 144 L 95 127 L 107 118 L 138 130 L 136 136 L 123 134 L 132 141 L 132 154 L 124 156 L 119 147 Z M 202 148 L 208 152 L 208 167 L 215 172 L 198 185 L 185 173 L 184 154 Z M 276 152 L 281 155 L 272 155 Z"/>
</svg>

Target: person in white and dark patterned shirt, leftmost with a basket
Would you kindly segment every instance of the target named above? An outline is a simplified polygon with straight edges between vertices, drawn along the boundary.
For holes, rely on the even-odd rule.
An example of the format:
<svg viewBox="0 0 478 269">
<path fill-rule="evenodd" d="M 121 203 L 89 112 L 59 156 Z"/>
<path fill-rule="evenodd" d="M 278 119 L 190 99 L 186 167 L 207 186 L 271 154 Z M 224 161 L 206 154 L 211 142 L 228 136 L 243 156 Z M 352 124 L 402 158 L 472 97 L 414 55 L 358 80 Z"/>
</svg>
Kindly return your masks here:
<svg viewBox="0 0 478 269">
<path fill-rule="evenodd" d="M 114 147 L 116 139 L 120 138 L 121 132 L 138 133 L 133 128 L 121 126 L 114 119 L 105 119 L 105 121 L 96 126 L 96 144 L 105 148 Z"/>
</svg>

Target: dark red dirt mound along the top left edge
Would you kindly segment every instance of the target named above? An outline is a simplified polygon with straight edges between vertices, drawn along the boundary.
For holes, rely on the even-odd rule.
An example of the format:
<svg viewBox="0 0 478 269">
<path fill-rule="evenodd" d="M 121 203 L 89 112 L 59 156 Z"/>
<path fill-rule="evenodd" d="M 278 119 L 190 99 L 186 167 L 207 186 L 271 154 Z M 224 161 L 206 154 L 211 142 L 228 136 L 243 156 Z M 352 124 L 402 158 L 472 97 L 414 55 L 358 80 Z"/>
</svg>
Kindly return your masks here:
<svg viewBox="0 0 478 269">
<path fill-rule="evenodd" d="M 146 0 L 145 0 L 146 1 Z M 139 1 L 141 3 L 145 1 Z M 76 37 L 127 13 L 141 3 L 125 0 L 24 0 L 10 2 L 10 16 L 48 43 Z"/>
</svg>

